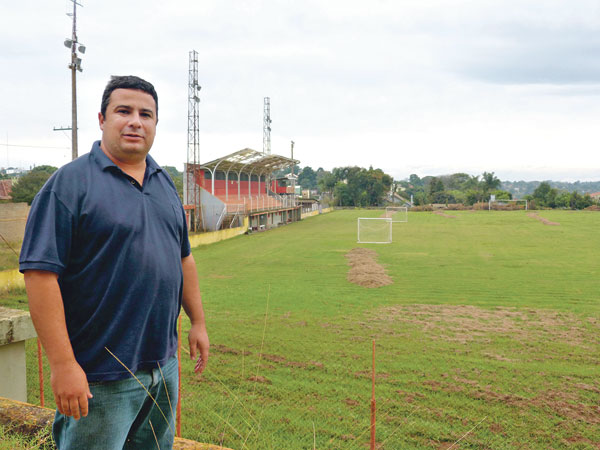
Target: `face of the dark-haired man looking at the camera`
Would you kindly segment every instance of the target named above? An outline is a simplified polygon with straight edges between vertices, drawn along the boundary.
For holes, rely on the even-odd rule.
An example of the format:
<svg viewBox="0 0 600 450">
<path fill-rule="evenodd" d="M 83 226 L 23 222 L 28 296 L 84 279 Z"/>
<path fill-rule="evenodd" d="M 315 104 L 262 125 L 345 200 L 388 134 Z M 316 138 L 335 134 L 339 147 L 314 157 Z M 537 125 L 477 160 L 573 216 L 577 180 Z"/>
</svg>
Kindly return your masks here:
<svg viewBox="0 0 600 450">
<path fill-rule="evenodd" d="M 115 89 L 106 108 L 98 113 L 102 149 L 119 162 L 134 164 L 146 158 L 156 135 L 154 98 L 137 89 Z"/>
</svg>

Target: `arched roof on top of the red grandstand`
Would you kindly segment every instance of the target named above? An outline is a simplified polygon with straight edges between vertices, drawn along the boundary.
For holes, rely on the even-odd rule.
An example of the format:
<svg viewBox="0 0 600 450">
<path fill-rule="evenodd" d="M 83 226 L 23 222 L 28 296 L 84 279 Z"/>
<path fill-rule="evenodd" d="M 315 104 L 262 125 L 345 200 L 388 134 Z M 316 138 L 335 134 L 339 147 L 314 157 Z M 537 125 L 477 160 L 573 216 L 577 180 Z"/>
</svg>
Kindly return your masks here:
<svg viewBox="0 0 600 450">
<path fill-rule="evenodd" d="M 271 174 L 277 170 L 299 163 L 300 161 L 296 159 L 280 155 L 265 155 L 262 152 L 245 148 L 213 161 L 201 163 L 200 168 L 210 171 L 222 170 L 224 172 Z"/>
</svg>

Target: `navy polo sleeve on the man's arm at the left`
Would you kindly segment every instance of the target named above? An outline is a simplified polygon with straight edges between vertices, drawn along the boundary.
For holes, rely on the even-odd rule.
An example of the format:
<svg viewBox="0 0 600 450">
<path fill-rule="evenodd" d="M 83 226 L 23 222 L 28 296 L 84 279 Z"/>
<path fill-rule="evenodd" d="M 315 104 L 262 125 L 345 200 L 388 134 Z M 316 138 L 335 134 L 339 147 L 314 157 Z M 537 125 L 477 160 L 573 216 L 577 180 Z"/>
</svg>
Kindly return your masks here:
<svg viewBox="0 0 600 450">
<path fill-rule="evenodd" d="M 19 257 L 19 271 L 47 270 L 62 274 L 67 266 L 74 216 L 51 190 L 40 192 L 34 199 Z"/>
</svg>

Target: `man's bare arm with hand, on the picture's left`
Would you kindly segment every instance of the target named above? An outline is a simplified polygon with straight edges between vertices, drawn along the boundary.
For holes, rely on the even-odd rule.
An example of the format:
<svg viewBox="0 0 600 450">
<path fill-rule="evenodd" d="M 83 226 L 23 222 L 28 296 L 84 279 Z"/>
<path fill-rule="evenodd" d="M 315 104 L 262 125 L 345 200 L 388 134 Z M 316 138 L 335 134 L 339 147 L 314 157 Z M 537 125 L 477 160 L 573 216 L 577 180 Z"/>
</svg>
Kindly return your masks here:
<svg viewBox="0 0 600 450">
<path fill-rule="evenodd" d="M 69 340 L 58 275 L 44 270 L 26 270 L 25 287 L 31 319 L 50 363 L 56 407 L 66 416 L 85 417 L 92 394 Z"/>
</svg>

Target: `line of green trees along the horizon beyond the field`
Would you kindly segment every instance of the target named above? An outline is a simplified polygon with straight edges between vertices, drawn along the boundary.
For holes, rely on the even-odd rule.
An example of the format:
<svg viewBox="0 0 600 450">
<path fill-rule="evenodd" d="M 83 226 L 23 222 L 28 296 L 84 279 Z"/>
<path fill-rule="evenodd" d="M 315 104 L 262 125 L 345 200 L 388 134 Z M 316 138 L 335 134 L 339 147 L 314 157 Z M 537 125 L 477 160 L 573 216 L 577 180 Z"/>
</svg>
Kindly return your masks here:
<svg viewBox="0 0 600 450">
<path fill-rule="evenodd" d="M 183 191 L 183 174 L 175 167 L 165 166 L 171 175 L 180 198 Z M 21 176 L 12 188 L 13 202 L 31 204 L 37 192 L 46 180 L 57 170 L 56 167 L 43 165 L 34 167 L 26 175 Z M 285 176 L 292 168 L 274 174 Z M 415 206 L 432 203 L 463 204 L 471 206 L 475 203 L 487 202 L 494 195 L 497 200 L 512 200 L 513 194 L 501 189 L 503 182 L 494 172 L 483 172 L 481 175 L 454 173 L 442 176 L 425 176 L 423 178 L 411 174 L 405 180 L 394 180 L 381 169 L 358 166 L 335 167 L 328 171 L 317 170 L 310 166 L 295 166 L 298 184 L 303 189 L 317 191 L 322 200 L 334 206 L 383 206 L 389 201 L 390 194 L 396 194 L 406 202 Z M 535 182 L 537 183 L 537 182 Z M 532 207 L 584 209 L 597 204 L 589 193 L 566 191 L 552 187 L 551 182 L 537 184 L 532 194 L 520 199 L 531 202 Z"/>
</svg>

